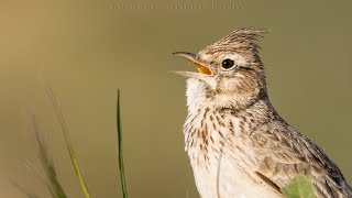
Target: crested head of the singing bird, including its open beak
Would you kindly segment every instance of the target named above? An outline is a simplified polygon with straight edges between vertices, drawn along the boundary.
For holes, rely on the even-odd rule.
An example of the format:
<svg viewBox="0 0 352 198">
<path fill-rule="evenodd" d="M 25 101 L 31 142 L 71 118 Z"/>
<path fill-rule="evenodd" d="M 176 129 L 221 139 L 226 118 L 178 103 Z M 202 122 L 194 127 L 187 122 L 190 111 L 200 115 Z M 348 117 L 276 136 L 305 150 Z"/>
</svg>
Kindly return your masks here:
<svg viewBox="0 0 352 198">
<path fill-rule="evenodd" d="M 258 56 L 260 46 L 254 42 L 265 30 L 253 28 L 233 31 L 198 54 L 176 52 L 198 69 L 173 72 L 187 80 L 188 105 L 216 100 L 222 106 L 232 100 L 250 100 L 265 90 L 264 67 Z"/>
</svg>

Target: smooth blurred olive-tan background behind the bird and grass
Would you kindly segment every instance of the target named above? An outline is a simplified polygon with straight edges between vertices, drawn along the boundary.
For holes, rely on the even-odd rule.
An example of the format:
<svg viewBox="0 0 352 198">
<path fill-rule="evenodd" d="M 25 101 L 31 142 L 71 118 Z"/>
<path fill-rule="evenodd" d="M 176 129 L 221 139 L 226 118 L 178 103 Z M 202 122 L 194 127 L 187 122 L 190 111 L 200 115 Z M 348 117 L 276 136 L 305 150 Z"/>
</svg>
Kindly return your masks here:
<svg viewBox="0 0 352 198">
<path fill-rule="evenodd" d="M 0 197 L 10 180 L 48 197 L 31 116 L 69 197 L 82 197 L 45 84 L 50 81 L 92 197 L 122 197 L 116 135 L 121 89 L 131 197 L 199 197 L 182 125 L 185 79 L 175 51 L 198 52 L 243 26 L 260 41 L 274 107 L 323 147 L 352 183 L 352 1 L 0 2 Z"/>
</svg>

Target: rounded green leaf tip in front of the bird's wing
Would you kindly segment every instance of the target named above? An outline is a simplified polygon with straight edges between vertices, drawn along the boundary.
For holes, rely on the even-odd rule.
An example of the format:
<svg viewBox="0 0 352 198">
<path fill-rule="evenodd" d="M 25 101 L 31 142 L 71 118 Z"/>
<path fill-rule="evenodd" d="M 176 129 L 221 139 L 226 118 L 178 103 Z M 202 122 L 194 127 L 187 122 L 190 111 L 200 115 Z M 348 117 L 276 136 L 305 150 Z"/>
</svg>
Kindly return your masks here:
<svg viewBox="0 0 352 198">
<path fill-rule="evenodd" d="M 304 175 L 296 176 L 282 191 L 286 198 L 316 198 L 310 179 Z"/>
</svg>

